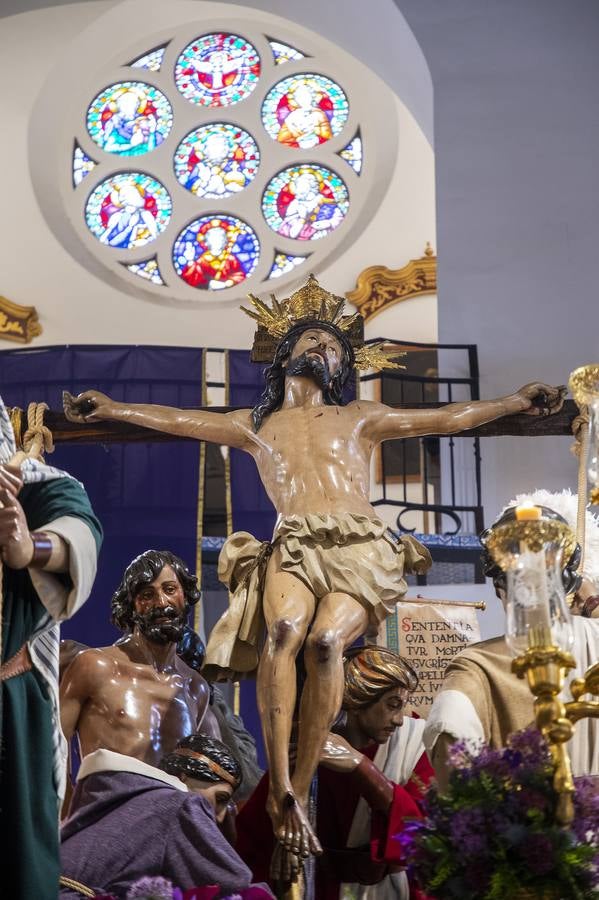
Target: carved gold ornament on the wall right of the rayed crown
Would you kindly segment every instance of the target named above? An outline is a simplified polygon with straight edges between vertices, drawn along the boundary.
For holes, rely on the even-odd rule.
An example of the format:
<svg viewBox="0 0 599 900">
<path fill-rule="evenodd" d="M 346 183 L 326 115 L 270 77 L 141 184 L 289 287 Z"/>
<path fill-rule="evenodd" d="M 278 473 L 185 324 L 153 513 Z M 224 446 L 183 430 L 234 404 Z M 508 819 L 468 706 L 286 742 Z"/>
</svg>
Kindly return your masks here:
<svg viewBox="0 0 599 900">
<path fill-rule="evenodd" d="M 346 298 L 363 316 L 364 321 L 378 313 L 421 294 L 437 293 L 437 257 L 430 244 L 426 245 L 424 256 L 411 259 L 401 269 L 387 266 L 369 266 L 358 275 L 355 290 Z"/>
</svg>

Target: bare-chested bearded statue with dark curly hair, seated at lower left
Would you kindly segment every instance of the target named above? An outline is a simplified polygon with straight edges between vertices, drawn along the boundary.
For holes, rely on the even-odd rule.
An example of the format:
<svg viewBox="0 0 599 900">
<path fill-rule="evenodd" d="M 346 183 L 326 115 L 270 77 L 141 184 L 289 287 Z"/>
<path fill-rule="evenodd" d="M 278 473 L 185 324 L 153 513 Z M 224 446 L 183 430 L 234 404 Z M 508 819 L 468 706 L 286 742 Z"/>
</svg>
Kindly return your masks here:
<svg viewBox="0 0 599 900">
<path fill-rule="evenodd" d="M 67 740 L 77 733 L 82 756 L 113 750 L 156 766 L 200 730 L 209 688 L 176 652 L 199 598 L 195 576 L 166 550 L 129 564 L 112 598 L 112 622 L 126 636 L 78 653 L 60 685 L 62 729 Z"/>
</svg>

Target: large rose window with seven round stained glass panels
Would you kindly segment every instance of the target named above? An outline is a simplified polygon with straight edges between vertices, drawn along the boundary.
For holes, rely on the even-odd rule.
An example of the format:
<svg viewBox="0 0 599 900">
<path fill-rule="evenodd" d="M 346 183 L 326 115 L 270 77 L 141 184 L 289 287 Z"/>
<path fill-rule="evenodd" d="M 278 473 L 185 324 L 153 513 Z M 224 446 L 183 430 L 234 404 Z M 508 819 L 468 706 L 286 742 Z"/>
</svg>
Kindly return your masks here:
<svg viewBox="0 0 599 900">
<path fill-rule="evenodd" d="M 326 54 L 277 36 L 181 33 L 121 71 L 92 87 L 71 160 L 105 265 L 192 300 L 307 275 L 333 251 L 370 173 L 367 106 L 354 108 Z"/>
</svg>

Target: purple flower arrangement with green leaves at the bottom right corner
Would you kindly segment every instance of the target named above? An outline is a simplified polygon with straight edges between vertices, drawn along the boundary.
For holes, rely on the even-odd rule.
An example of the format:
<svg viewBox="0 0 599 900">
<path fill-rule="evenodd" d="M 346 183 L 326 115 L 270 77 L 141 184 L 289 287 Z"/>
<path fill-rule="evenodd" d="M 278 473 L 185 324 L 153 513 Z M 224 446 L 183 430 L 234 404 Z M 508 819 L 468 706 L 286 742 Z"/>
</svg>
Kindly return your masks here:
<svg viewBox="0 0 599 900">
<path fill-rule="evenodd" d="M 599 898 L 599 788 L 577 778 L 575 821 L 555 822 L 553 764 L 544 738 L 518 732 L 507 747 L 451 750 L 444 793 L 397 839 L 417 884 L 438 900 L 506 900 L 529 891 L 555 900 Z"/>
</svg>

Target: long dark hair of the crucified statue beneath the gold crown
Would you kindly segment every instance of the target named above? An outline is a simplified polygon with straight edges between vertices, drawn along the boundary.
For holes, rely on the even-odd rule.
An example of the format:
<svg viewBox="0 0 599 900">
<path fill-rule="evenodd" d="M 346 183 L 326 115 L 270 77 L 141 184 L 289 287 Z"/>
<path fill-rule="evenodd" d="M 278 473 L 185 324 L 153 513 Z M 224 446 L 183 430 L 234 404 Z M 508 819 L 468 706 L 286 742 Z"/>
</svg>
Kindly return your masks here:
<svg viewBox="0 0 599 900">
<path fill-rule="evenodd" d="M 324 402 L 329 406 L 343 406 L 343 388 L 352 374 L 355 362 L 352 346 L 346 335 L 330 322 L 322 322 L 320 319 L 304 319 L 289 329 L 285 337 L 277 345 L 272 365 L 264 371 L 266 382 L 264 393 L 252 410 L 254 431 L 260 430 L 260 426 L 266 416 L 280 409 L 285 397 L 285 367 L 283 363 L 291 356 L 293 348 L 304 331 L 311 331 L 312 329 L 328 331 L 341 344 L 339 368 L 331 376 L 329 385 L 323 390 L 322 395 Z"/>
</svg>

